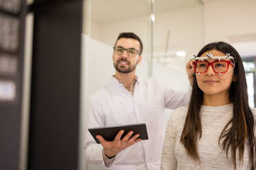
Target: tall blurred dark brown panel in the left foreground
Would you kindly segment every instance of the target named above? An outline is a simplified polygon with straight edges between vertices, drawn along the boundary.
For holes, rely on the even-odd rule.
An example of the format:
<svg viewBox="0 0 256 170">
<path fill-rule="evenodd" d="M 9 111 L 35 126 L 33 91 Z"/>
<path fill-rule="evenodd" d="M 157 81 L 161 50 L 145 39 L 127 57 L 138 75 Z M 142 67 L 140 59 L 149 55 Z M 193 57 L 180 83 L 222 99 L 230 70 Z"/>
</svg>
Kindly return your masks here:
<svg viewBox="0 0 256 170">
<path fill-rule="evenodd" d="M 28 169 L 78 169 L 83 1 L 38 1 Z"/>
</svg>

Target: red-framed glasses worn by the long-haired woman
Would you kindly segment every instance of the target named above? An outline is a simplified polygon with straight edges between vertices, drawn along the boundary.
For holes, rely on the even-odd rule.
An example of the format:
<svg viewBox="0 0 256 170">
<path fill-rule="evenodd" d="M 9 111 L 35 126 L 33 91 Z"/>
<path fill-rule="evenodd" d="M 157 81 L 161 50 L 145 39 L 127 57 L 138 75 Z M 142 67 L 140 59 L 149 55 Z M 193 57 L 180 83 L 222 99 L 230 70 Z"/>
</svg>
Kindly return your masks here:
<svg viewBox="0 0 256 170">
<path fill-rule="evenodd" d="M 214 73 L 219 73 L 222 75 L 228 71 L 229 65 L 234 66 L 231 60 L 215 60 L 213 62 L 208 62 L 206 60 L 199 60 L 193 62 L 195 73 L 205 73 L 209 66 L 213 68 Z"/>
</svg>

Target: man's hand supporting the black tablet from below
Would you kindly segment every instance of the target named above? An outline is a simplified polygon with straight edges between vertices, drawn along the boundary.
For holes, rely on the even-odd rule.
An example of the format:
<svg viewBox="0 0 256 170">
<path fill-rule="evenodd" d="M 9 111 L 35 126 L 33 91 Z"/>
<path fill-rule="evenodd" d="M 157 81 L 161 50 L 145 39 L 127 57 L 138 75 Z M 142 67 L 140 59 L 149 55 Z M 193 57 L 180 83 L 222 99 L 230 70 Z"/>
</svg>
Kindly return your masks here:
<svg viewBox="0 0 256 170">
<path fill-rule="evenodd" d="M 107 157 L 116 156 L 123 149 L 134 145 L 138 141 L 141 141 L 141 138 L 138 138 L 140 134 L 136 134 L 133 137 L 131 135 L 134 133 L 130 131 L 127 135 L 125 135 L 122 139 L 121 136 L 124 133 L 124 130 L 120 130 L 116 135 L 114 141 L 105 141 L 103 136 L 97 135 L 98 141 L 100 141 L 101 145 L 104 147 L 104 153 Z"/>
</svg>

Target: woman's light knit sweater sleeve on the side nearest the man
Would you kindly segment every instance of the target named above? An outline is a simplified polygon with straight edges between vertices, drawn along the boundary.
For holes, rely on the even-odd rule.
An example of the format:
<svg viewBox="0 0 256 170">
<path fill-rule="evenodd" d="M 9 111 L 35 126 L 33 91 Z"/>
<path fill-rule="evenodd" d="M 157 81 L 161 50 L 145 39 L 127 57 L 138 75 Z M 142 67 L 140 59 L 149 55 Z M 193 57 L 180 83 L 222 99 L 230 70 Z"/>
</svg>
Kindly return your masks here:
<svg viewBox="0 0 256 170">
<path fill-rule="evenodd" d="M 161 170 L 177 169 L 177 160 L 175 158 L 175 138 L 176 132 L 173 127 L 172 114 L 167 123 L 167 130 L 165 132 L 164 146 L 162 148 Z"/>
</svg>

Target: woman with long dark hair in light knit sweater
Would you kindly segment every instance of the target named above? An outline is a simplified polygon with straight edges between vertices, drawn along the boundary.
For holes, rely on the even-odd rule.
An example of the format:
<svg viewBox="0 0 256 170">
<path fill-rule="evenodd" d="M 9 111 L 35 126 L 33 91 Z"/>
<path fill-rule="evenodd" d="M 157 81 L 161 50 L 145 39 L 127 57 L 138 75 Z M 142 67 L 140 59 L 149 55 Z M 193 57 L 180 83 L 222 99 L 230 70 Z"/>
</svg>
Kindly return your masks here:
<svg viewBox="0 0 256 170">
<path fill-rule="evenodd" d="M 211 43 L 193 67 L 191 101 L 171 114 L 161 169 L 256 169 L 256 110 L 248 106 L 239 53 Z"/>
</svg>

